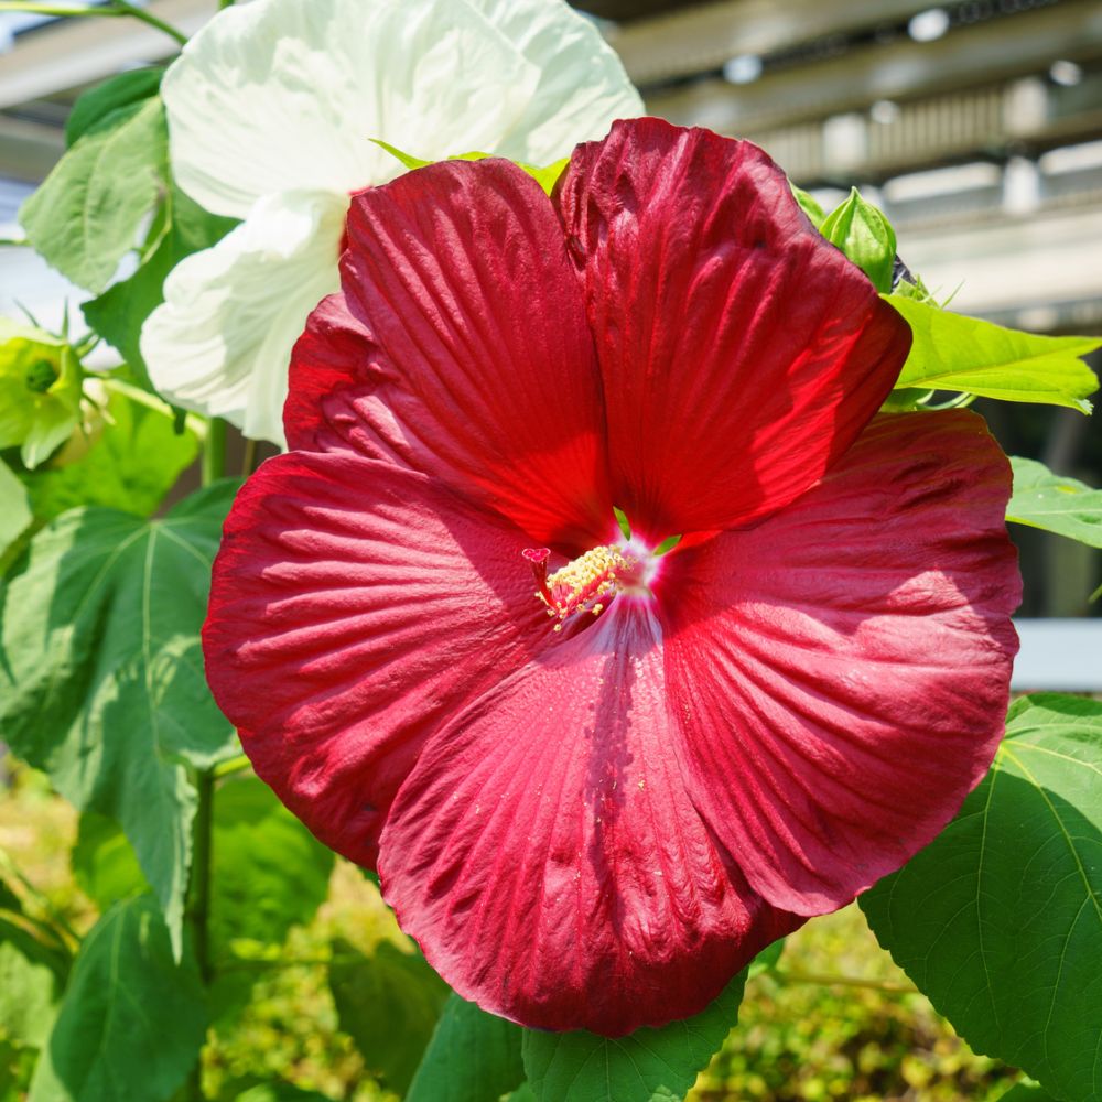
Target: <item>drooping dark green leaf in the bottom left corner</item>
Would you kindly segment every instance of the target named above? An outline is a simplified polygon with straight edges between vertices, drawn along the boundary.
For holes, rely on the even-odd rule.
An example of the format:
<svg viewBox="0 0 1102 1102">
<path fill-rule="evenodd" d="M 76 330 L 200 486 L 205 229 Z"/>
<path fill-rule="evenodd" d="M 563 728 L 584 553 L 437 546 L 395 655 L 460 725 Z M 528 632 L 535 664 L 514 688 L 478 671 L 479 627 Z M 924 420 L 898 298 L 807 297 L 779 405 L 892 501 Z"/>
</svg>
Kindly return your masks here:
<svg viewBox="0 0 1102 1102">
<path fill-rule="evenodd" d="M 176 964 L 149 898 L 117 904 L 77 954 L 30 1102 L 163 1102 L 184 1082 L 206 1033 L 191 955 Z"/>
</svg>

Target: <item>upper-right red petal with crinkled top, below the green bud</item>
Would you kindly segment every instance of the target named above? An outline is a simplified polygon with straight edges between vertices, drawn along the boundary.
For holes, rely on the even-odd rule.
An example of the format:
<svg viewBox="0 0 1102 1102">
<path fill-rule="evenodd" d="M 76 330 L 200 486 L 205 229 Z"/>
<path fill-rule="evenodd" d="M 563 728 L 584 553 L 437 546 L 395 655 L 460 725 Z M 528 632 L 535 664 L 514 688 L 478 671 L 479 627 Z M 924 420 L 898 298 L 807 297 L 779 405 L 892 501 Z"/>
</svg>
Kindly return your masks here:
<svg viewBox="0 0 1102 1102">
<path fill-rule="evenodd" d="M 749 142 L 617 122 L 574 151 L 559 202 L 608 396 L 616 504 L 649 537 L 793 500 L 898 377 L 907 324 Z"/>
</svg>

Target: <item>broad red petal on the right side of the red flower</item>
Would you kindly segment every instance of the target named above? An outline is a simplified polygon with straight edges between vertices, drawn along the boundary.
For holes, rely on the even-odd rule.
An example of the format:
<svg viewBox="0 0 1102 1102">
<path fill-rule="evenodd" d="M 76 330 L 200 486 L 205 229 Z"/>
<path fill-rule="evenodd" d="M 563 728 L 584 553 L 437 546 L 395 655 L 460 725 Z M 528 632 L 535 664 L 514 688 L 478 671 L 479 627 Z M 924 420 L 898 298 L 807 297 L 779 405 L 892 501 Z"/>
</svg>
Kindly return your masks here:
<svg viewBox="0 0 1102 1102">
<path fill-rule="evenodd" d="M 847 903 L 991 764 L 1017 650 L 1009 490 L 974 414 L 880 417 L 799 501 L 671 555 L 694 797 L 774 906 Z"/>
</svg>

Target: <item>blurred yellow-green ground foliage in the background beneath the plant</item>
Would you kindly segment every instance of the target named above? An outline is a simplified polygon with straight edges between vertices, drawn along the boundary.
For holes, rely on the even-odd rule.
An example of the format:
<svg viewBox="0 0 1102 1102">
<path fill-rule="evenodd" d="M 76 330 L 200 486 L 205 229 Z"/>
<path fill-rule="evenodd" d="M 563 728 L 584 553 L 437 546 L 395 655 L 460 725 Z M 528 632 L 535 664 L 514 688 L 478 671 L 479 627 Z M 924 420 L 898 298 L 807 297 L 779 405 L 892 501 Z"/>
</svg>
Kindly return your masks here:
<svg viewBox="0 0 1102 1102">
<path fill-rule="evenodd" d="M 78 880 L 96 894 L 125 892 L 127 877 L 136 884 L 132 856 L 117 839 L 114 853 L 96 867 L 98 889 L 87 871 L 75 876 L 69 849 L 77 841 L 78 817 L 50 791 L 41 774 L 10 759 L 6 768 L 12 788 L 0 801 L 0 852 L 19 864 L 51 908 L 84 933 L 99 911 Z M 235 785 L 242 781 L 225 781 L 223 788 Z M 233 798 L 238 807 L 257 800 L 251 786 Z M 282 818 L 279 811 L 271 813 Z M 225 832 L 224 844 L 230 833 Z M 293 829 L 281 844 L 295 844 Z M 80 857 L 74 863 L 89 867 Z M 242 862 L 231 877 L 237 897 L 270 900 L 269 873 L 262 863 Z M 251 952 L 247 944 L 236 947 L 245 958 L 239 971 L 247 983 L 238 992 L 236 1013 L 216 1024 L 204 1050 L 208 1098 L 309 1100 L 309 1094 L 277 1092 L 273 1081 L 348 1102 L 397 1102 L 401 1096 L 387 1084 L 408 1082 L 411 1065 L 395 1039 L 404 1038 L 415 1061 L 439 1011 L 433 1001 L 442 1003 L 442 985 L 433 991 L 430 981 L 426 991 L 420 981 L 408 982 L 413 973 L 402 972 L 400 962 L 410 962 L 415 972 L 419 958 L 410 955 L 412 944 L 358 868 L 337 860 L 323 887 L 322 894 L 316 885 L 293 887 L 304 920 L 287 929 L 282 943 L 258 938 Z M 272 921 L 279 926 L 283 920 L 276 911 L 285 914 L 273 906 L 267 919 L 258 915 L 253 932 L 271 932 Z M 364 1005 L 342 1005 L 339 983 L 332 983 L 331 975 L 347 974 L 358 962 L 378 965 L 388 959 L 391 966 L 399 962 L 400 972 L 389 991 L 379 990 L 377 966 L 357 977 L 364 981 L 371 973 L 371 986 L 352 984 L 377 1020 L 365 1018 Z M 33 1048 L 0 1028 L 0 1102 L 24 1096 L 34 1056 Z M 987 1102 L 1019 1078 L 1015 1069 L 974 1055 L 955 1036 L 851 906 L 792 934 L 776 968 L 749 980 L 738 1025 L 701 1073 L 689 1102 Z"/>
</svg>

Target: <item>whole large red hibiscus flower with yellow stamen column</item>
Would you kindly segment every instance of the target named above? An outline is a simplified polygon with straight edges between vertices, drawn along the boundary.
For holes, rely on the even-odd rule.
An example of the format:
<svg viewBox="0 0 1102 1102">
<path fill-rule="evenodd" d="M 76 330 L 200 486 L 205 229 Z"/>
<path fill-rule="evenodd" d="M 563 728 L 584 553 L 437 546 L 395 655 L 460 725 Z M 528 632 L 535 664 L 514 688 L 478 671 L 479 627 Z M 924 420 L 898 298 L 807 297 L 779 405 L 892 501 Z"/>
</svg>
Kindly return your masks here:
<svg viewBox="0 0 1102 1102">
<path fill-rule="evenodd" d="M 987 768 L 1007 464 L 877 415 L 909 331 L 746 142 L 617 123 L 551 199 L 435 164 L 347 234 L 226 525 L 215 695 L 461 995 L 700 1011 Z"/>
</svg>

